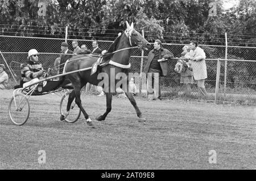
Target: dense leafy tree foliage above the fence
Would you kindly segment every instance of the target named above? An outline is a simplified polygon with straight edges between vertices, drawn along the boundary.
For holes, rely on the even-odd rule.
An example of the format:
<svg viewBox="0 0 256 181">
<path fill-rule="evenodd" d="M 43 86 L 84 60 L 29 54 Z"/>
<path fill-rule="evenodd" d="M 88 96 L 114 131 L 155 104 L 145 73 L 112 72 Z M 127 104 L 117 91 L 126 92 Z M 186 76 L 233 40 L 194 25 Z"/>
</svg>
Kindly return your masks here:
<svg viewBox="0 0 256 181">
<path fill-rule="evenodd" d="M 39 2 L 47 3 L 46 16 L 38 15 Z M 210 3 L 216 3 L 216 16 L 209 15 Z M 175 43 L 191 37 L 218 44 L 214 34 L 255 35 L 256 30 L 255 0 L 240 0 L 230 10 L 219 0 L 2 0 L 0 11 L 0 24 L 8 25 L 2 32 L 21 36 L 63 37 L 65 26 L 70 36 L 104 36 L 124 30 L 126 20 L 150 40 L 171 37 Z"/>
</svg>

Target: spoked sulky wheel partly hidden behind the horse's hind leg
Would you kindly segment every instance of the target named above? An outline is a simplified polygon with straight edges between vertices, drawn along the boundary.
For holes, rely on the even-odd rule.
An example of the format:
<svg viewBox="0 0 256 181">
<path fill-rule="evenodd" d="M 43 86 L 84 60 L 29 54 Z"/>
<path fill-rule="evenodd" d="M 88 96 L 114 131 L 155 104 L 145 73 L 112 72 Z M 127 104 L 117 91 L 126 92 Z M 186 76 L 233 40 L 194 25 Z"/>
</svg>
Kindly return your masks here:
<svg viewBox="0 0 256 181">
<path fill-rule="evenodd" d="M 67 110 L 67 104 L 68 104 L 68 95 L 65 94 L 60 100 L 60 114 L 63 115 L 64 112 Z M 75 103 L 75 99 L 71 103 L 70 111 L 68 117 L 65 119 L 68 123 L 75 123 L 81 115 L 81 110 Z"/>
</svg>

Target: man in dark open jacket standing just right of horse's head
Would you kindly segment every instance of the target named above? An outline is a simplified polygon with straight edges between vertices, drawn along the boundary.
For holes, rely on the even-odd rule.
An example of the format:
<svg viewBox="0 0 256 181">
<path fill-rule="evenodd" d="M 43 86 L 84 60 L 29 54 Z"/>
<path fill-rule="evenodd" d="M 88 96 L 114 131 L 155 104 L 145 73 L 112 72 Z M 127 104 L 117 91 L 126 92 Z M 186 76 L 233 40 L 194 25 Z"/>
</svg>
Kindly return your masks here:
<svg viewBox="0 0 256 181">
<path fill-rule="evenodd" d="M 149 77 L 147 76 L 147 90 L 148 90 L 148 99 L 160 99 L 161 91 L 160 91 L 160 76 L 168 75 L 168 62 L 167 59 L 174 57 L 174 55 L 165 48 L 162 48 L 162 42 L 160 40 L 155 40 L 154 49 L 152 49 L 147 56 L 147 63 L 143 69 L 143 72 L 147 75 L 148 73 L 152 73 L 152 83 L 148 83 Z M 159 77 L 158 81 L 158 89 L 154 89 L 154 79 L 155 77 Z M 150 87 L 150 85 L 152 87 Z M 149 90 L 154 89 L 154 92 Z"/>
</svg>

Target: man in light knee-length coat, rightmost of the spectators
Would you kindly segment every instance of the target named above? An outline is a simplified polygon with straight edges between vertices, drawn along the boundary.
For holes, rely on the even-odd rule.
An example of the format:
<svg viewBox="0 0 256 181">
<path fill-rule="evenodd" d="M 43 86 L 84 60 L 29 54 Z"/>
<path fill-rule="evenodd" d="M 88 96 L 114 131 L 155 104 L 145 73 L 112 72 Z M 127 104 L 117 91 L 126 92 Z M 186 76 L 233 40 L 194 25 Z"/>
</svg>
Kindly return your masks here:
<svg viewBox="0 0 256 181">
<path fill-rule="evenodd" d="M 197 46 L 196 41 L 191 41 L 189 48 L 193 50 L 192 52 L 192 69 L 193 77 L 197 82 L 197 87 L 200 94 L 207 96 L 207 91 L 205 90 L 205 79 L 207 79 L 207 66 L 205 64 L 205 52 L 203 49 Z"/>
</svg>

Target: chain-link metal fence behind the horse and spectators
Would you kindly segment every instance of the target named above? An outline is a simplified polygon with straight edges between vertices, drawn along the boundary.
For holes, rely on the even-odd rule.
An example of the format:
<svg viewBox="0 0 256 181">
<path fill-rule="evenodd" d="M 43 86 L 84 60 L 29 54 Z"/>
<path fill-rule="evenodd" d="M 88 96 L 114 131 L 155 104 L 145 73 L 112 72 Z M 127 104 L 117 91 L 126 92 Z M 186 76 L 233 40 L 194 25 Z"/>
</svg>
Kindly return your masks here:
<svg viewBox="0 0 256 181">
<path fill-rule="evenodd" d="M 52 68 L 55 58 L 59 57 L 60 44 L 64 39 L 49 39 L 38 37 L 16 37 L 16 36 L 0 36 L 0 64 L 9 64 L 14 70 L 16 81 L 20 79 L 20 68 L 18 63 L 24 63 L 27 60 L 28 50 L 35 48 L 40 52 L 39 61 L 44 69 Z M 79 46 L 85 44 L 88 49 L 92 49 L 92 40 L 79 40 Z M 99 41 L 99 47 L 104 50 L 108 49 L 113 41 Z M 72 48 L 72 39 L 68 39 L 69 49 Z M 163 44 L 163 48 L 170 50 L 175 57 L 180 57 L 184 44 Z M 217 75 L 217 59 L 225 58 L 225 46 L 199 45 L 203 48 L 207 60 L 208 78 L 205 87 L 209 93 L 208 100 L 214 100 L 216 95 L 216 75 Z M 141 61 L 143 67 L 147 61 L 149 50 L 142 52 L 139 49 L 133 49 L 131 62 L 131 71 L 140 72 Z M 238 102 L 256 104 L 256 47 L 228 47 L 228 61 L 222 60 L 220 66 L 220 85 L 219 85 L 219 102 Z M 174 71 L 177 60 L 168 61 L 169 74 L 162 78 L 161 90 L 162 95 L 167 98 L 176 96 L 183 97 L 184 87 L 180 83 L 180 74 Z M 13 87 L 16 82 L 7 70 L 10 77 L 9 88 Z M 226 77 L 226 80 L 225 80 Z M 185 95 L 185 98 L 200 99 L 197 93 L 196 84 L 192 84 L 192 95 Z"/>
</svg>

